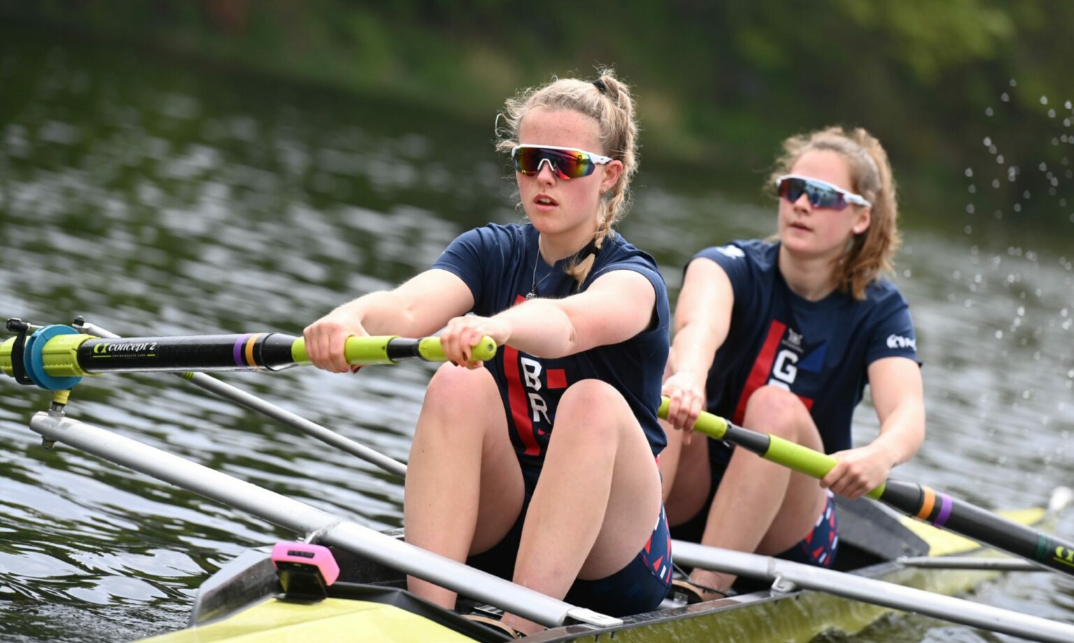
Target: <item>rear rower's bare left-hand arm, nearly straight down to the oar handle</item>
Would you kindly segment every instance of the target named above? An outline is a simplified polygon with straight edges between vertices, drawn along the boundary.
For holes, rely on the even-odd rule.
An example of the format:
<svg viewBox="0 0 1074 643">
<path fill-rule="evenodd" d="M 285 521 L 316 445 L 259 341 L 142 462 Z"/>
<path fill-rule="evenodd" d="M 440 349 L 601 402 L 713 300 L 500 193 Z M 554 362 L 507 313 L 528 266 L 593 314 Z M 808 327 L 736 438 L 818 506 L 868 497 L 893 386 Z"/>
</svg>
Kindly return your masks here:
<svg viewBox="0 0 1074 643">
<path fill-rule="evenodd" d="M 692 429 L 705 407 L 705 384 L 716 349 L 727 339 L 735 291 L 724 268 L 708 259 L 686 267 L 674 311 L 674 340 L 665 372 L 668 422 Z"/>
</svg>

